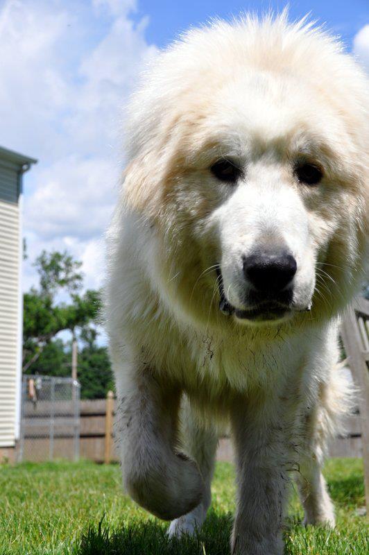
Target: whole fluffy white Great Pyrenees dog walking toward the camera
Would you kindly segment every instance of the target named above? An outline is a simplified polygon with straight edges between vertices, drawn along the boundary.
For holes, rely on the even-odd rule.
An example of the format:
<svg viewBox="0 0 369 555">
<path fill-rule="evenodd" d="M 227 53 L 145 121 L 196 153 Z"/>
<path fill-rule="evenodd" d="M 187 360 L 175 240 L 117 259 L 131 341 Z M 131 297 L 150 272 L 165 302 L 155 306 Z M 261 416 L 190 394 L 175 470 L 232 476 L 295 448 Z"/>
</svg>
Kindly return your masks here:
<svg viewBox="0 0 369 555">
<path fill-rule="evenodd" d="M 322 465 L 349 404 L 368 90 L 336 39 L 282 15 L 190 31 L 132 96 L 105 309 L 124 484 L 170 535 L 205 519 L 224 426 L 234 554 L 282 554 L 293 476 L 305 522 L 334 525 Z"/>
</svg>

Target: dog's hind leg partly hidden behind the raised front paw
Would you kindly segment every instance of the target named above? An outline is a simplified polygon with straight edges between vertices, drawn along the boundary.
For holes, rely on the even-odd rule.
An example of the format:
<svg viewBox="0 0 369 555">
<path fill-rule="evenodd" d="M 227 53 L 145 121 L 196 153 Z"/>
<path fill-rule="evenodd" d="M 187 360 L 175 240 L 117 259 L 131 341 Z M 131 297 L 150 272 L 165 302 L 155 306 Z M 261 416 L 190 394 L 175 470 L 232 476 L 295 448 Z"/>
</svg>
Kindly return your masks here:
<svg viewBox="0 0 369 555">
<path fill-rule="evenodd" d="M 211 484 L 218 435 L 215 429 L 205 428 L 198 422 L 187 402 L 184 407 L 182 429 L 184 450 L 198 464 L 205 483 L 205 490 L 202 501 L 195 509 L 171 522 L 168 529 L 169 536 L 181 536 L 183 533 L 191 534 L 196 529 L 200 529 L 212 501 Z"/>
</svg>

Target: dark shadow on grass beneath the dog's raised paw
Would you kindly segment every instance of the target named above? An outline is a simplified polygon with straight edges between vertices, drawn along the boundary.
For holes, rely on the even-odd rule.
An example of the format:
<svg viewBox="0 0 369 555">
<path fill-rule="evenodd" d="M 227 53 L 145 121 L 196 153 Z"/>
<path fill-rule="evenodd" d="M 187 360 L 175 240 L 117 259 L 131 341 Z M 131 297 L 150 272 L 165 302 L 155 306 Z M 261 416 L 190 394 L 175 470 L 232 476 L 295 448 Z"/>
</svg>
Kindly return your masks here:
<svg viewBox="0 0 369 555">
<path fill-rule="evenodd" d="M 168 538 L 157 522 L 133 522 L 109 529 L 103 521 L 89 531 L 76 549 L 78 555 L 224 555 L 230 550 L 232 515 L 210 512 L 194 537 Z"/>
</svg>

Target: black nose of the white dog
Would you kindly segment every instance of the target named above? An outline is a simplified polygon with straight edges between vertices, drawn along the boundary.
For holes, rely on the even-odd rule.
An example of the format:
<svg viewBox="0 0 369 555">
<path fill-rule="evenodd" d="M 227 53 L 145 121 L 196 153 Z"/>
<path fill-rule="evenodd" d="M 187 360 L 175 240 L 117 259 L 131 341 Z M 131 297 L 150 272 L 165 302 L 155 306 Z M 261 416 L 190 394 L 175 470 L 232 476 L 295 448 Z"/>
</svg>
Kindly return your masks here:
<svg viewBox="0 0 369 555">
<path fill-rule="evenodd" d="M 293 279 L 298 266 L 289 253 L 260 252 L 243 260 L 246 279 L 261 293 L 278 293 Z"/>
</svg>

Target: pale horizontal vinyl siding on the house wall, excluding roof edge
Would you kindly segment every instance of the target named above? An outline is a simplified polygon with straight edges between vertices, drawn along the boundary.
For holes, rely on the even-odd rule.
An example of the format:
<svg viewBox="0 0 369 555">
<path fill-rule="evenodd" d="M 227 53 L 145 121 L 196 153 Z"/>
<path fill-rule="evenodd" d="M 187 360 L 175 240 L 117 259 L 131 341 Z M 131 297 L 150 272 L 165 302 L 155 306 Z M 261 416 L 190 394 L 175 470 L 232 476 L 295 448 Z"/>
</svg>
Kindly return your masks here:
<svg viewBox="0 0 369 555">
<path fill-rule="evenodd" d="M 17 169 L 0 162 L 0 447 L 15 445 L 19 348 Z"/>
</svg>

